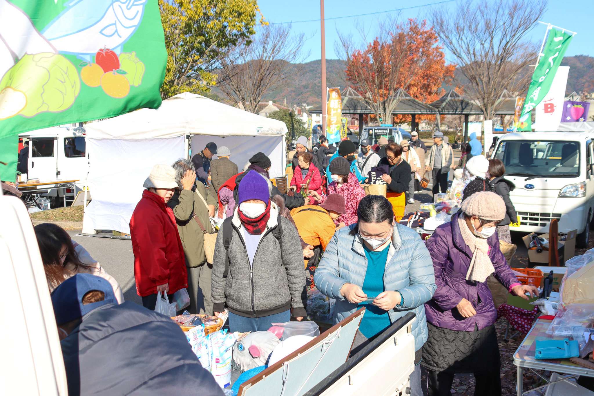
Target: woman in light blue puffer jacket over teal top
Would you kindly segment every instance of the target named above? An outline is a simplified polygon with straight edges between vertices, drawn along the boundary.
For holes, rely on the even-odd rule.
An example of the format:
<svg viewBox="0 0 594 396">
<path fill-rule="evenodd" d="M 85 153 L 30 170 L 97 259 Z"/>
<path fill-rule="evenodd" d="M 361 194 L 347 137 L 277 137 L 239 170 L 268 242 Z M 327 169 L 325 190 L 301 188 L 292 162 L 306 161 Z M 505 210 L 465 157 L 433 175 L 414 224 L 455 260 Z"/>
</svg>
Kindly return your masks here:
<svg viewBox="0 0 594 396">
<path fill-rule="evenodd" d="M 421 349 L 427 337 L 423 304 L 436 287 L 431 256 L 414 230 L 395 221 L 383 196 L 367 195 L 357 212 L 357 223 L 334 233 L 326 246 L 314 282 L 321 293 L 336 299 L 334 324 L 366 308 L 352 354 L 406 313 L 415 313 L 410 331 L 415 370 L 409 386 L 410 394 L 422 396 Z"/>
</svg>

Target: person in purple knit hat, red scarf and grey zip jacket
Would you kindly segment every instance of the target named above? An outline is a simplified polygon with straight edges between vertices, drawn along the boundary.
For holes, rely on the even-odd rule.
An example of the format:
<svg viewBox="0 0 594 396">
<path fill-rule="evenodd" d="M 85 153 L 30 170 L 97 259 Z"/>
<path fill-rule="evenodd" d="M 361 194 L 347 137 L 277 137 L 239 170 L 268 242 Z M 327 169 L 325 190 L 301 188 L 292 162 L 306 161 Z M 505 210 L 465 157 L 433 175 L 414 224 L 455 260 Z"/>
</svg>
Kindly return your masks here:
<svg viewBox="0 0 594 396">
<path fill-rule="evenodd" d="M 301 299 L 305 267 L 297 229 L 279 213 L 268 183 L 255 170 L 239 182 L 237 202 L 214 246 L 214 315 L 229 309 L 231 332 L 266 331 L 273 322 L 290 321 L 291 315 L 301 321 L 307 313 Z M 232 227 L 230 233 L 226 227 Z"/>
</svg>

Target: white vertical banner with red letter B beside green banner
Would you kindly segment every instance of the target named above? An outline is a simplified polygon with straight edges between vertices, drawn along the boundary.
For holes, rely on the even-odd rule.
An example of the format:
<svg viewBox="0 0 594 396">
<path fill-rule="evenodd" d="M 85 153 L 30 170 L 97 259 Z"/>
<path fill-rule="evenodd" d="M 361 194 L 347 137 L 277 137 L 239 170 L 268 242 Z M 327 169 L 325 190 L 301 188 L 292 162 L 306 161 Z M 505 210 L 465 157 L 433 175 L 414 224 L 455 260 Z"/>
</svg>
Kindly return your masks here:
<svg viewBox="0 0 594 396">
<path fill-rule="evenodd" d="M 563 101 L 565 99 L 565 85 L 569 66 L 559 66 L 551 83 L 551 88 L 542 98 L 542 102 L 536 105 L 536 132 L 557 131 L 563 113 Z"/>
</svg>

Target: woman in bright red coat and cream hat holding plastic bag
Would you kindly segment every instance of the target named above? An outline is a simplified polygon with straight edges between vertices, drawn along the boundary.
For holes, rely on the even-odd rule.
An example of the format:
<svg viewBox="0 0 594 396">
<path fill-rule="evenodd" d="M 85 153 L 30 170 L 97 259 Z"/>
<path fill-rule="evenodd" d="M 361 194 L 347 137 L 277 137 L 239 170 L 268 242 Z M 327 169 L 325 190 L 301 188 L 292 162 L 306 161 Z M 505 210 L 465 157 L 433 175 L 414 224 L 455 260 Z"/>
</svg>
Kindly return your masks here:
<svg viewBox="0 0 594 396">
<path fill-rule="evenodd" d="M 172 302 L 173 293 L 188 287 L 188 273 L 175 216 L 167 206 L 178 186 L 175 170 L 157 164 L 143 186 L 147 189 L 132 213 L 130 236 L 136 292 L 143 306 L 154 311 L 157 292 L 167 293 Z"/>
</svg>

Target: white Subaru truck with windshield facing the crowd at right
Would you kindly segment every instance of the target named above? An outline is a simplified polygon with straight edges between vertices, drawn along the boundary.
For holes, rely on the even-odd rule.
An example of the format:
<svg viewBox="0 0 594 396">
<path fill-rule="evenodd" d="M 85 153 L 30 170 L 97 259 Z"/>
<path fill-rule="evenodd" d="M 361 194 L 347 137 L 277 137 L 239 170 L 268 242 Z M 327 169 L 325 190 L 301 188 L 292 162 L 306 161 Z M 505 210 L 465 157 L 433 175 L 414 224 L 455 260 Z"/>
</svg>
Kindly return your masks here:
<svg viewBox="0 0 594 396">
<path fill-rule="evenodd" d="M 586 132 L 519 132 L 503 135 L 492 158 L 503 161 L 505 179 L 516 188 L 510 199 L 519 215 L 512 231 L 578 232 L 586 248 L 594 213 L 594 152 Z"/>
</svg>

